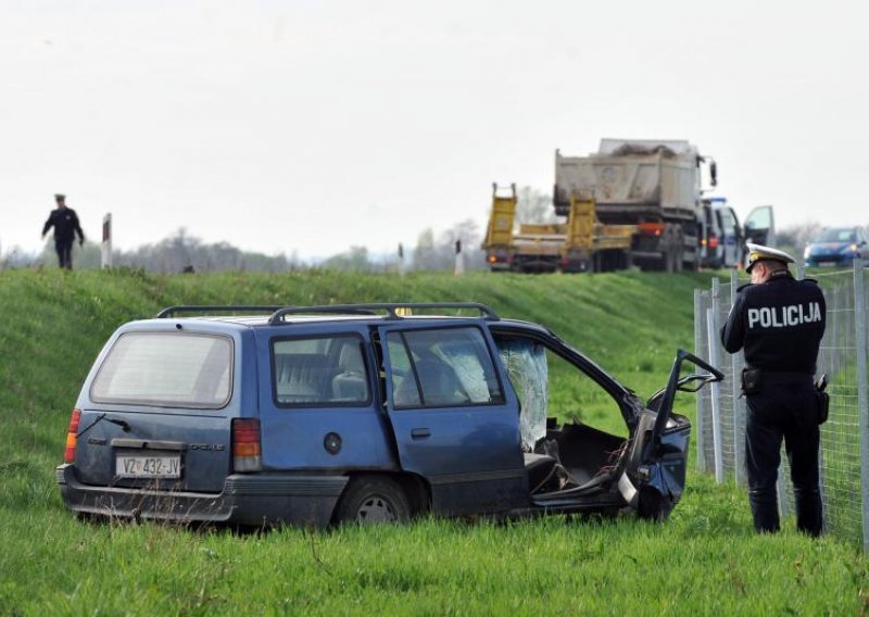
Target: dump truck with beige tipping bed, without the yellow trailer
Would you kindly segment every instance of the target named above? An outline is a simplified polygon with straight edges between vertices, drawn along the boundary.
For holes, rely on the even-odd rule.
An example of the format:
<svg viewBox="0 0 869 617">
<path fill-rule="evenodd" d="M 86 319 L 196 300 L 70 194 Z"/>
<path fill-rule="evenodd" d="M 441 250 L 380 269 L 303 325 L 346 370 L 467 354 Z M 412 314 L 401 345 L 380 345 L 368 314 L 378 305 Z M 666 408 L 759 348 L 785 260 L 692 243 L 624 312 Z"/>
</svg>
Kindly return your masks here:
<svg viewBox="0 0 869 617">
<path fill-rule="evenodd" d="M 576 196 L 588 196 L 601 224 L 635 227 L 628 262 L 641 269 L 695 269 L 704 164 L 714 187 L 715 161 L 684 140 L 602 139 L 588 156 L 556 150 L 555 212 L 568 216 Z"/>
</svg>

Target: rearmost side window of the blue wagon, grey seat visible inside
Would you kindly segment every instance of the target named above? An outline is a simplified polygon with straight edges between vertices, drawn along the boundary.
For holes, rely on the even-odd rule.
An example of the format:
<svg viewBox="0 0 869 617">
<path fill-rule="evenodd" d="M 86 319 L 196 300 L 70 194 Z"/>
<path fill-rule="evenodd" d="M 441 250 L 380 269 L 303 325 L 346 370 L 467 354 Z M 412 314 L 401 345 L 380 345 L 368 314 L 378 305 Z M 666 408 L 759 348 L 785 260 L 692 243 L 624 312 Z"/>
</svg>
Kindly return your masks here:
<svg viewBox="0 0 869 617">
<path fill-rule="evenodd" d="M 273 395 L 281 407 L 370 402 L 363 340 L 357 335 L 272 342 Z"/>
</svg>

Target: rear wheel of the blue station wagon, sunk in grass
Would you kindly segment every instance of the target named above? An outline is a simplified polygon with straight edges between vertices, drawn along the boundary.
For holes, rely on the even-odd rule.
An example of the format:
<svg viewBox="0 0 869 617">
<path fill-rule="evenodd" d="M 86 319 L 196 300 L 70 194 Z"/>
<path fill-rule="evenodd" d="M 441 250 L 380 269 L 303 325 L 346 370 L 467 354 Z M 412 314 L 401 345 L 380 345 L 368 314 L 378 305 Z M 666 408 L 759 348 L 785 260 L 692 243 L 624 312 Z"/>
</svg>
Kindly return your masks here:
<svg viewBox="0 0 869 617">
<path fill-rule="evenodd" d="M 336 508 L 336 522 L 406 522 L 411 503 L 398 482 L 382 476 L 353 478 Z"/>
</svg>

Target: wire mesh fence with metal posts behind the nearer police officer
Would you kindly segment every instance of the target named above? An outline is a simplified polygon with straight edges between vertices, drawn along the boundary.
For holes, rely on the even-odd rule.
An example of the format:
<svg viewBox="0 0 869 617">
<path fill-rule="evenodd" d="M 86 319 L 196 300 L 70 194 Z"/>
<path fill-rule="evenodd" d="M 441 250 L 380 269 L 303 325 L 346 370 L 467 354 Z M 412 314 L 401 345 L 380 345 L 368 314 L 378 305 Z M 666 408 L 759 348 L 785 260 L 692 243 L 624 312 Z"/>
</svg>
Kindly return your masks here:
<svg viewBox="0 0 869 617">
<path fill-rule="evenodd" d="M 802 276 L 802 272 L 798 273 Z M 827 329 L 818 354 L 818 374 L 829 379 L 830 416 L 821 426 L 820 477 L 828 533 L 861 541 L 869 549 L 869 388 L 867 387 L 867 305 L 869 269 L 813 275 L 827 300 Z M 725 380 L 697 396 L 697 466 L 716 479 L 745 484 L 745 399 L 739 376 L 742 353 L 728 354 L 719 331 L 735 299 L 740 280 L 715 279 L 694 294 L 695 353 L 725 373 Z M 782 514 L 793 513 L 788 458 L 779 474 Z"/>
</svg>

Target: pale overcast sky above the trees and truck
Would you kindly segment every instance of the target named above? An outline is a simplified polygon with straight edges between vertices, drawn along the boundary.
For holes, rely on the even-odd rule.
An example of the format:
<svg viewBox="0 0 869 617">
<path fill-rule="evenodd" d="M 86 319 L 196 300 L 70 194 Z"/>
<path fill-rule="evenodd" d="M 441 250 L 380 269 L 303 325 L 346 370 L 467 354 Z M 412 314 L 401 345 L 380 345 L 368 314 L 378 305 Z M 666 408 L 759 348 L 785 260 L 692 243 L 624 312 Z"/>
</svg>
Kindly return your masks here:
<svg viewBox="0 0 869 617">
<path fill-rule="evenodd" d="M 867 7 L 0 0 L 0 245 L 65 192 L 123 249 L 391 251 L 602 137 L 691 140 L 742 216 L 866 224 Z"/>
</svg>

